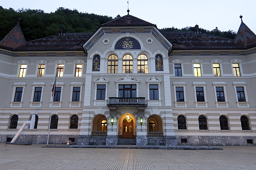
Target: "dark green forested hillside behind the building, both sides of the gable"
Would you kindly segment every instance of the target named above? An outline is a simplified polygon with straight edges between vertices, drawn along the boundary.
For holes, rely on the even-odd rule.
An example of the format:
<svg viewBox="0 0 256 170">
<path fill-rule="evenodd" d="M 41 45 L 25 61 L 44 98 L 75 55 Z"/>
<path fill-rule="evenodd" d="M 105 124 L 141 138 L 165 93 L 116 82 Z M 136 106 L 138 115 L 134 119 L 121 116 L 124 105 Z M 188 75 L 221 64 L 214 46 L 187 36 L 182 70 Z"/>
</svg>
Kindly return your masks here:
<svg viewBox="0 0 256 170">
<path fill-rule="evenodd" d="M 66 32 L 95 32 L 99 24 L 113 20 L 112 17 L 95 15 L 93 13 L 82 13 L 76 9 L 58 8 L 55 12 L 45 13 L 41 9 L 4 9 L 0 6 L 0 40 L 2 40 L 12 28 L 18 23 L 20 17 L 20 28 L 26 41 L 35 40 L 59 33 L 62 26 Z M 117 15 L 120 17 L 120 15 Z M 162 28 L 160 31 L 193 31 L 194 27 L 185 28 Z M 236 32 L 233 30 L 219 31 L 217 28 L 212 31 L 201 28 L 202 33 L 227 37 L 234 39 Z"/>
</svg>

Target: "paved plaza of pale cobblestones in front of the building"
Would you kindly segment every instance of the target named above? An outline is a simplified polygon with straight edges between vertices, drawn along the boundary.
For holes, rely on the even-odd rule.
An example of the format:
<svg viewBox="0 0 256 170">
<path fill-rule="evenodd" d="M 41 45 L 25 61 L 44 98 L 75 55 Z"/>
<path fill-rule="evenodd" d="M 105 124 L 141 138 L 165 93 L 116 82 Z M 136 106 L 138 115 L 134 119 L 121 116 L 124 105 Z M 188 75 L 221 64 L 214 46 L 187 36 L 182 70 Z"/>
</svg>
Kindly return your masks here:
<svg viewBox="0 0 256 170">
<path fill-rule="evenodd" d="M 42 148 L 0 143 L 0 170 L 255 170 L 256 146 L 223 150 Z"/>
</svg>

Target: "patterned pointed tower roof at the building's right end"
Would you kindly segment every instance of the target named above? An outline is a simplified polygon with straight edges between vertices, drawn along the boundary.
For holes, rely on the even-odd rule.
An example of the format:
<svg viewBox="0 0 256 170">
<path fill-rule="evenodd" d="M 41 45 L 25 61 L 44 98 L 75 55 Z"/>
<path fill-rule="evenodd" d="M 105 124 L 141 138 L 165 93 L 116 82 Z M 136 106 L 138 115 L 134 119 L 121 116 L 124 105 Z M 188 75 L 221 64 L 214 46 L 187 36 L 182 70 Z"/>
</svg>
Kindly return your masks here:
<svg viewBox="0 0 256 170">
<path fill-rule="evenodd" d="M 253 33 L 251 29 L 248 28 L 247 25 L 245 25 L 245 23 L 242 20 L 242 16 L 240 16 L 240 18 L 241 18 L 241 25 L 234 39 L 234 43 L 244 47 L 248 47 L 252 44 L 256 44 L 255 33 Z"/>
</svg>

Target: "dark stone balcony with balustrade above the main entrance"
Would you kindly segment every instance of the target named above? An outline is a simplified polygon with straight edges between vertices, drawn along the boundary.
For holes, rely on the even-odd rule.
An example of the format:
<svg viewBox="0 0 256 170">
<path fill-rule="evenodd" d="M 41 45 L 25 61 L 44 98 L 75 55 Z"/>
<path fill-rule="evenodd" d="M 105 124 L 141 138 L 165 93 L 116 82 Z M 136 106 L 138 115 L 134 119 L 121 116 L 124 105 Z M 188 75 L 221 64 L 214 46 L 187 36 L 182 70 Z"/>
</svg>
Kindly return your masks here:
<svg viewBox="0 0 256 170">
<path fill-rule="evenodd" d="M 145 98 L 109 98 L 109 104 L 107 106 L 141 106 L 147 107 L 145 104 Z"/>
</svg>

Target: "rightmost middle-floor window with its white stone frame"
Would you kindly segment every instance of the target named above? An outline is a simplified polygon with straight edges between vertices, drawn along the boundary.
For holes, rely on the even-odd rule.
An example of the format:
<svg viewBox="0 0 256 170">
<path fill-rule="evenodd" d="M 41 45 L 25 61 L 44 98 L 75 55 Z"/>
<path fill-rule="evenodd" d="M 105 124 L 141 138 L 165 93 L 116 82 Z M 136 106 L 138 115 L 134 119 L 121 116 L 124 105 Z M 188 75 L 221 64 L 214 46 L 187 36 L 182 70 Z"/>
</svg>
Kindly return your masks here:
<svg viewBox="0 0 256 170">
<path fill-rule="evenodd" d="M 237 107 L 249 107 L 246 84 L 247 83 L 245 82 L 233 82 L 236 93 Z"/>
</svg>

